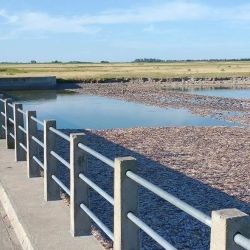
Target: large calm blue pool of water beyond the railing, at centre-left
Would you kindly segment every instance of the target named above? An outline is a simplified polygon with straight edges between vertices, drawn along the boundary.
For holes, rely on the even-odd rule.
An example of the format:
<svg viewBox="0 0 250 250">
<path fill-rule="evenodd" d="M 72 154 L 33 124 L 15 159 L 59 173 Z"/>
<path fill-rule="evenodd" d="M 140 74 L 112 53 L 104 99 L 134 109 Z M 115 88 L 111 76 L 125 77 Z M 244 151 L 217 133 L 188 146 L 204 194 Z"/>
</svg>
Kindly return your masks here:
<svg viewBox="0 0 250 250">
<path fill-rule="evenodd" d="M 165 109 L 107 97 L 55 91 L 20 91 L 9 94 L 23 103 L 24 110 L 36 110 L 39 119 L 56 119 L 59 128 L 235 125 L 194 115 L 186 109 Z"/>
</svg>

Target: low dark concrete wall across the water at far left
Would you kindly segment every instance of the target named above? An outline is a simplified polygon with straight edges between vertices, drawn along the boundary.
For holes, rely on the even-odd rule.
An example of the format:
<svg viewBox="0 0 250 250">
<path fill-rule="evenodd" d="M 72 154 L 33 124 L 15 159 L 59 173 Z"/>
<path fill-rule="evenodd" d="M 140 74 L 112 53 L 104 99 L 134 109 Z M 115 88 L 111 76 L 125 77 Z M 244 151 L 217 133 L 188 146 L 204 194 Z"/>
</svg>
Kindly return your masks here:
<svg viewBox="0 0 250 250">
<path fill-rule="evenodd" d="M 55 86 L 55 76 L 0 78 L 0 90 L 52 89 Z"/>
</svg>

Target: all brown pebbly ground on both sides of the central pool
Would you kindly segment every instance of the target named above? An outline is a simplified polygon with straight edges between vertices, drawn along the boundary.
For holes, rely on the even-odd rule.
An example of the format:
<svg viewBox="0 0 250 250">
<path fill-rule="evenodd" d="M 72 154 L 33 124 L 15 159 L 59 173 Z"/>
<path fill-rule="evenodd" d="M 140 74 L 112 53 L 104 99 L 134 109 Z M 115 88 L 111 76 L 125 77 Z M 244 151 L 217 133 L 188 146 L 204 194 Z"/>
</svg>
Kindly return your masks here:
<svg viewBox="0 0 250 250">
<path fill-rule="evenodd" d="M 229 85 L 225 81 L 219 85 L 228 87 L 235 83 L 232 79 L 229 79 Z M 207 84 L 216 87 L 218 81 L 211 79 Z M 249 100 L 171 90 L 189 85 L 193 83 L 137 80 L 62 84 L 60 88 L 166 108 L 187 108 L 200 115 L 250 124 Z M 198 81 L 196 87 L 203 87 L 202 82 Z M 237 79 L 237 87 L 249 87 L 249 79 Z M 247 127 L 132 128 L 84 132 L 91 148 L 110 159 L 135 157 L 140 176 L 208 215 L 223 208 L 238 208 L 250 214 L 250 129 Z M 69 160 L 68 143 L 60 140 L 59 144 L 58 153 Z M 88 163 L 88 177 L 113 195 L 113 170 L 93 157 L 89 157 Z M 61 178 L 69 184 L 69 172 L 63 166 Z M 113 230 L 111 205 L 95 192 L 91 192 L 90 200 L 90 208 Z M 209 249 L 210 229 L 206 225 L 144 188 L 139 189 L 138 216 L 177 249 Z M 93 234 L 105 248 L 112 248 L 111 241 L 96 226 Z M 140 232 L 140 237 L 142 249 L 162 249 L 145 233 Z"/>
</svg>

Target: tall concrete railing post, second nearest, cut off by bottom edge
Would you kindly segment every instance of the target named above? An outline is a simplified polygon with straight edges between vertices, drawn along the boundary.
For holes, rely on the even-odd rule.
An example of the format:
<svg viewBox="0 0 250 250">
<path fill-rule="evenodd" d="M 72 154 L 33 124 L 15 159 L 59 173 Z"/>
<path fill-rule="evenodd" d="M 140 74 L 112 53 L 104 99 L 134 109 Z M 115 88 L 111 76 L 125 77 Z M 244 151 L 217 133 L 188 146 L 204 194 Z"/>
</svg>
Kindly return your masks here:
<svg viewBox="0 0 250 250">
<path fill-rule="evenodd" d="M 137 214 L 138 185 L 126 176 L 137 171 L 132 157 L 115 159 L 114 169 L 114 250 L 140 249 L 139 228 L 127 218 L 129 212 Z"/>
</svg>

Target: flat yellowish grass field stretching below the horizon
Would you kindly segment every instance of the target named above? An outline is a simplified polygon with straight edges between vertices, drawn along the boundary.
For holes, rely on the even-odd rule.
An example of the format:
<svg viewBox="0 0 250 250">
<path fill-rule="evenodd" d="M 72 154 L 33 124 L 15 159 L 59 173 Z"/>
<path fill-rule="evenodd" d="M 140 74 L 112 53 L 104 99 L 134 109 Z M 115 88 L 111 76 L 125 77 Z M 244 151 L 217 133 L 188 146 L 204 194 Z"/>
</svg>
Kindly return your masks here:
<svg viewBox="0 0 250 250">
<path fill-rule="evenodd" d="M 110 78 L 168 78 L 250 76 L 250 61 L 106 63 L 106 64 L 0 64 L 3 76 L 55 75 L 66 80 Z"/>
</svg>

